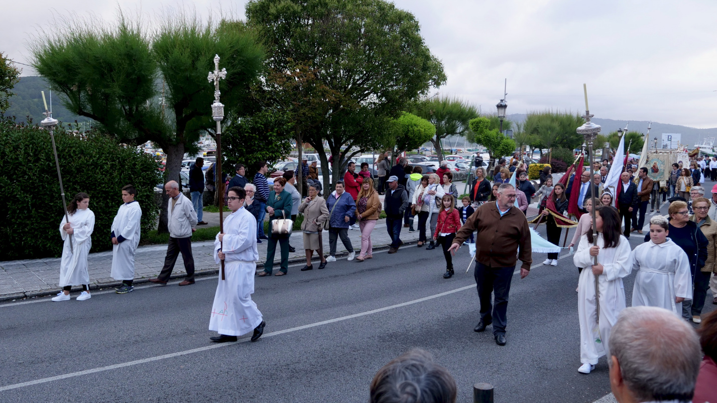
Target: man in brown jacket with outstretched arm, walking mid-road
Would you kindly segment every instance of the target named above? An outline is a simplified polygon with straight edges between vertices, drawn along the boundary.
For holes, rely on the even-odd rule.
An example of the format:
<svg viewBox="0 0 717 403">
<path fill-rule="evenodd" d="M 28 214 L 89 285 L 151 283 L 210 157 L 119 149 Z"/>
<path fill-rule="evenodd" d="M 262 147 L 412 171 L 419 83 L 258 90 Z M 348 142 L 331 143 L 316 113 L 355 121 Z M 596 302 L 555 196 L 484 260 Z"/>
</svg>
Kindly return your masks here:
<svg viewBox="0 0 717 403">
<path fill-rule="evenodd" d="M 516 254 L 523 262 L 521 278 L 526 278 L 533 262 L 531 232 L 526 216 L 516 202 L 516 188 L 511 184 L 498 187 L 498 199 L 475 209 L 449 248 L 455 253 L 460 245 L 478 231 L 475 244 L 481 245 L 475 253 L 475 283 L 480 298 L 480 322 L 474 331 L 485 331 L 493 323 L 493 336 L 498 346 L 505 346 L 505 323 L 508 311 L 508 293 L 511 290 Z M 490 293 L 495 294 L 495 305 L 490 303 Z M 491 311 L 492 309 L 492 311 Z"/>
</svg>

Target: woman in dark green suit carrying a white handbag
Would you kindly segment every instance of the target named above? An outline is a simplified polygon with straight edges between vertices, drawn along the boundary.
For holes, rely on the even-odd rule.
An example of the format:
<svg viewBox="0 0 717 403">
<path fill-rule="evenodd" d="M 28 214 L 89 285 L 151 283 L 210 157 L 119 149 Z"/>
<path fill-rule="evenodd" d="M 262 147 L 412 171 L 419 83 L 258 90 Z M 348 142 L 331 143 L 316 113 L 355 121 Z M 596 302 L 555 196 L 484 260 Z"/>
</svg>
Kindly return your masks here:
<svg viewBox="0 0 717 403">
<path fill-rule="evenodd" d="M 260 277 L 271 275 L 272 273 L 277 242 L 281 247 L 281 268 L 275 275 L 285 275 L 289 271 L 289 236 L 291 228 L 287 229 L 281 224 L 285 224 L 287 221 L 291 222 L 291 194 L 284 190 L 284 186 L 286 186 L 286 179 L 281 177 L 274 179 L 274 190 L 269 193 L 269 199 L 267 200 L 266 209 L 270 219 L 269 245 L 267 246 L 267 261 L 264 263 L 264 271 L 259 273 Z"/>
</svg>

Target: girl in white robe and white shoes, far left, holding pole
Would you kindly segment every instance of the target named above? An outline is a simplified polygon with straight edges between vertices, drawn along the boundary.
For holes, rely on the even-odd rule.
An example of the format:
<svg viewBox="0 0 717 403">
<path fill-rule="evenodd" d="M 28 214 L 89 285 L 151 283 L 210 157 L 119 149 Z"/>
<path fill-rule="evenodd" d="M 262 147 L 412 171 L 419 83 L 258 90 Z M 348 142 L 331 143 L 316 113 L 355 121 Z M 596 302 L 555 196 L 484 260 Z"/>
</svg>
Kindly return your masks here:
<svg viewBox="0 0 717 403">
<path fill-rule="evenodd" d="M 62 217 L 60 235 L 65 241 L 62 245 L 60 261 L 60 287 L 62 291 L 52 298 L 53 301 L 70 300 L 72 285 L 82 285 L 78 301 L 89 300 L 90 274 L 87 272 L 87 255 L 92 247 L 92 231 L 95 229 L 95 213 L 90 210 L 90 196 L 86 193 L 75 194 L 67 205 L 70 222 Z M 72 242 L 72 249 L 70 249 Z"/>
</svg>

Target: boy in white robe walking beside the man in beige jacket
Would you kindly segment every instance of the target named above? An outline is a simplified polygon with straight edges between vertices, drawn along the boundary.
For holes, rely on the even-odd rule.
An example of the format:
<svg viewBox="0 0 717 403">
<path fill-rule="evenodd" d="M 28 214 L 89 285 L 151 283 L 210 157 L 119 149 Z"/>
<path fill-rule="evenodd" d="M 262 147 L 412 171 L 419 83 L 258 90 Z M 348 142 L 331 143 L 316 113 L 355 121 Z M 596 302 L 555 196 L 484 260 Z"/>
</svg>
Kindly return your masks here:
<svg viewBox="0 0 717 403">
<path fill-rule="evenodd" d="M 142 209 L 134 199 L 137 190 L 132 185 L 122 188 L 124 204 L 112 222 L 112 271 L 115 280 L 122 280 L 122 285 L 115 291 L 118 294 L 130 293 L 134 290 L 134 255 L 139 245 L 140 220 Z"/>
</svg>

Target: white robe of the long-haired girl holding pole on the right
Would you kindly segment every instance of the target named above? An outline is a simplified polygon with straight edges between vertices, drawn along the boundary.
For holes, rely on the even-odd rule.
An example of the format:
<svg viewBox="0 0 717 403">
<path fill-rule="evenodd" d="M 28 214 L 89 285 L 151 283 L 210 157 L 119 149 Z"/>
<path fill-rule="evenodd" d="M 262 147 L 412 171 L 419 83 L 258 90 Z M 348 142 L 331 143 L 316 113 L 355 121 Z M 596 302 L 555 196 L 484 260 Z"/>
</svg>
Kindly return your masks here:
<svg viewBox="0 0 717 403">
<path fill-rule="evenodd" d="M 597 364 L 597 360 L 608 353 L 608 341 L 617 315 L 625 309 L 625 287 L 622 278 L 632 270 L 630 264 L 630 242 L 620 235 L 617 247 L 604 248 L 602 233 L 597 234 L 600 252 L 597 262 L 603 265 L 602 275 L 597 276 L 600 297 L 600 322 L 596 321 L 595 275 L 592 274 L 593 257 L 587 234 L 580 237 L 580 244 L 573 256 L 577 267 L 584 267 L 578 281 L 578 318 L 580 321 L 580 362 Z"/>
</svg>

